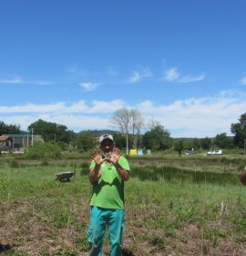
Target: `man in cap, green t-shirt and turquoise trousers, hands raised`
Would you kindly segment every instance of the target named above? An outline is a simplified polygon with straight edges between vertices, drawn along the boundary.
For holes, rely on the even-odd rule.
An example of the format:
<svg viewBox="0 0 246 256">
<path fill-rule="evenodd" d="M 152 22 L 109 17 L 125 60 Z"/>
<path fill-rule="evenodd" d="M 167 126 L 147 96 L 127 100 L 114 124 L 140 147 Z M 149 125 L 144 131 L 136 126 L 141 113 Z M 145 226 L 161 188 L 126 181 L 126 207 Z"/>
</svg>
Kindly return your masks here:
<svg viewBox="0 0 246 256">
<path fill-rule="evenodd" d="M 105 231 L 108 228 L 110 256 L 120 256 L 124 223 L 124 182 L 129 178 L 128 160 L 120 155 L 113 136 L 103 134 L 99 149 L 93 152 L 88 179 L 92 184 L 90 224 L 87 239 L 89 255 L 102 255 Z"/>
</svg>

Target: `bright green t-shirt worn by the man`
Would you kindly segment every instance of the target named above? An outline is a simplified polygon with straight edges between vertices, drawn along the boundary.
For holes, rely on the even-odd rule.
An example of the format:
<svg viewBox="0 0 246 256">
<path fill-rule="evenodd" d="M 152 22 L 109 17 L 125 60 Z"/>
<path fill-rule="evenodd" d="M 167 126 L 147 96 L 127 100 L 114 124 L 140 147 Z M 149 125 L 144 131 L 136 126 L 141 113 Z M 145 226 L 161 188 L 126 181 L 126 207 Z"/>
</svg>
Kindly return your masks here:
<svg viewBox="0 0 246 256">
<path fill-rule="evenodd" d="M 94 168 L 95 161 L 92 160 L 89 170 Z M 128 160 L 120 155 L 118 165 L 129 171 Z M 124 208 L 124 181 L 118 175 L 114 165 L 104 161 L 100 166 L 98 181 L 93 184 L 91 206 L 100 208 Z"/>
</svg>

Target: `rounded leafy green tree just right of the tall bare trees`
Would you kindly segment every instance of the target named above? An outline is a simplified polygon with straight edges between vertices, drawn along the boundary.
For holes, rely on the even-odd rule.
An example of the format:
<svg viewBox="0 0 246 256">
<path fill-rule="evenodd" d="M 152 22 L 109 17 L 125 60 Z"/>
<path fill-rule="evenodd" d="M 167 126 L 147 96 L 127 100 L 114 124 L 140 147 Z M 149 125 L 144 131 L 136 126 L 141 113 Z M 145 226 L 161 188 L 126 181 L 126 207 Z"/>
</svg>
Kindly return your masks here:
<svg viewBox="0 0 246 256">
<path fill-rule="evenodd" d="M 170 147 L 170 133 L 157 124 L 143 135 L 143 145 L 151 150 L 164 150 Z"/>
</svg>

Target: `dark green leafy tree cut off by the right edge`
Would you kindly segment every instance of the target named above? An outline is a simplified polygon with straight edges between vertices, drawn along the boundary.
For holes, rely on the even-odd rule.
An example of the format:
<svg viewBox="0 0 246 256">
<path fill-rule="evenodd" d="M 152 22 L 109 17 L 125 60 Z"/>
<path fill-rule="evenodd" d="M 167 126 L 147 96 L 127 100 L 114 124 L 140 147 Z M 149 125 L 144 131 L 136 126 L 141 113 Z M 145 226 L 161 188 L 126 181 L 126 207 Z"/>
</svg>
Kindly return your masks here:
<svg viewBox="0 0 246 256">
<path fill-rule="evenodd" d="M 234 145 L 243 148 L 246 140 L 246 112 L 241 114 L 239 123 L 231 123 L 231 133 L 234 133 Z"/>
</svg>

